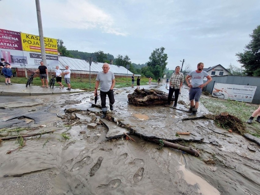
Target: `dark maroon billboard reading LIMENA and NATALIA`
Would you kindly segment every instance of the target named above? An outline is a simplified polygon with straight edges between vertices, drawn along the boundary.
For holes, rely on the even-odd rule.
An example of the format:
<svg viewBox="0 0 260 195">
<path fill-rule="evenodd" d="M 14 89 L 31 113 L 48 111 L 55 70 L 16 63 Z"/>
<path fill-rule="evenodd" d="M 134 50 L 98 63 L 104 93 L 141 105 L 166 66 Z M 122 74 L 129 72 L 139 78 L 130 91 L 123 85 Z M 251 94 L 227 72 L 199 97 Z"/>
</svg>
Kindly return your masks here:
<svg viewBox="0 0 260 195">
<path fill-rule="evenodd" d="M 22 50 L 20 32 L 0 29 L 0 48 Z"/>
</svg>

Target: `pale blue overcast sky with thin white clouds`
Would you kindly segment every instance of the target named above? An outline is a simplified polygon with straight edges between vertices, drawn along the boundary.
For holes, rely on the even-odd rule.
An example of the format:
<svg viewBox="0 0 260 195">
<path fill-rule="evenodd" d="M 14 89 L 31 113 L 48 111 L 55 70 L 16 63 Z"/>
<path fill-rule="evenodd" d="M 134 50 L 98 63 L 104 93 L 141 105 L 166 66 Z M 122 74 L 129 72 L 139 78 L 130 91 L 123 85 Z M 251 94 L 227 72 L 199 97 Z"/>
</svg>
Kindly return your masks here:
<svg viewBox="0 0 260 195">
<path fill-rule="evenodd" d="M 259 0 L 40 0 L 45 37 L 69 50 L 128 55 L 146 63 L 160 47 L 169 69 L 230 63 L 260 25 Z M 38 35 L 34 0 L 1 0 L 0 28 Z"/>
</svg>

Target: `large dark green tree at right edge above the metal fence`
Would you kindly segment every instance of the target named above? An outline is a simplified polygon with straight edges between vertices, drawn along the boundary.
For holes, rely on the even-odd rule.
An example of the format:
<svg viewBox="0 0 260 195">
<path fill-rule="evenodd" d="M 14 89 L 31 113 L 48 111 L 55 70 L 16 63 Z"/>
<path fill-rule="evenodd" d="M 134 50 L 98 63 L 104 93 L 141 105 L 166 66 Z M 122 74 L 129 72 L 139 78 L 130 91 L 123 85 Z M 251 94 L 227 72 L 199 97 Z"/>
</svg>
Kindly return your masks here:
<svg viewBox="0 0 260 195">
<path fill-rule="evenodd" d="M 260 25 L 249 35 L 252 40 L 245 46 L 244 53 L 237 53 L 238 62 L 245 68 L 248 76 L 260 76 Z"/>
</svg>

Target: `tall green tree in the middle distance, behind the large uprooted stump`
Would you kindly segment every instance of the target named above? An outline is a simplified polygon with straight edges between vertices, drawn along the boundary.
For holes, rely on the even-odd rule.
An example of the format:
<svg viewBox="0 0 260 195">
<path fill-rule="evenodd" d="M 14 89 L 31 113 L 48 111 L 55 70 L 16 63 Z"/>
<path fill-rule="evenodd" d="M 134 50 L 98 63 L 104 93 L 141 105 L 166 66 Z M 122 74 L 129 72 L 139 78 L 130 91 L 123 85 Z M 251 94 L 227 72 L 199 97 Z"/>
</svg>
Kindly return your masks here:
<svg viewBox="0 0 260 195">
<path fill-rule="evenodd" d="M 167 65 L 166 60 L 168 59 L 168 56 L 164 53 L 164 50 L 164 47 L 153 50 L 151 56 L 149 57 L 150 61 L 147 63 L 147 66 L 151 67 L 150 72 L 152 72 L 155 77 L 158 75 L 158 78 L 163 76 L 164 69 Z M 157 65 L 159 68 L 156 67 Z"/>
</svg>

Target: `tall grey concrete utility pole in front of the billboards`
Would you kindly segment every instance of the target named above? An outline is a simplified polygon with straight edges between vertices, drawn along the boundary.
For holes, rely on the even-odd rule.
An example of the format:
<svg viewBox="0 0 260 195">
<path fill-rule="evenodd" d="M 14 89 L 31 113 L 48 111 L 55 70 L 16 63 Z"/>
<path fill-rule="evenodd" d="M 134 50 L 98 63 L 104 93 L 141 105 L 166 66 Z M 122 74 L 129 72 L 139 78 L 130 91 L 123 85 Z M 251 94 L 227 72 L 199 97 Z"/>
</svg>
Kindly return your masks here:
<svg viewBox="0 0 260 195">
<path fill-rule="evenodd" d="M 43 65 L 47 67 L 44 38 L 43 38 L 43 30 L 42 30 L 42 16 L 41 16 L 40 1 L 35 0 L 35 4 L 36 4 L 36 13 L 37 13 L 37 21 L 38 21 L 42 61 L 43 61 Z M 47 77 L 47 79 L 48 79 L 48 83 L 49 83 L 49 77 Z"/>
</svg>

